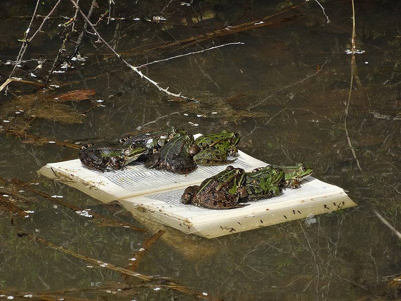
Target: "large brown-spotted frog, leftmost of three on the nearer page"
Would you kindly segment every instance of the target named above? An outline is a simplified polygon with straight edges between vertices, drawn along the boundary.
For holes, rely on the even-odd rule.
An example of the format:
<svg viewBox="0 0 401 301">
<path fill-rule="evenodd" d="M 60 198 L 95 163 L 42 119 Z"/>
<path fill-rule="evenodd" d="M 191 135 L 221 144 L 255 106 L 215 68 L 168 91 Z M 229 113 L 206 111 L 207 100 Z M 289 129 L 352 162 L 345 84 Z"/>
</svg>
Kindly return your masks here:
<svg viewBox="0 0 401 301">
<path fill-rule="evenodd" d="M 239 198 L 247 196 L 244 189 L 245 171 L 228 166 L 223 172 L 205 179 L 199 186 L 189 186 L 181 196 L 183 204 L 192 204 L 208 209 L 230 209 L 245 206 L 237 204 Z"/>
</svg>

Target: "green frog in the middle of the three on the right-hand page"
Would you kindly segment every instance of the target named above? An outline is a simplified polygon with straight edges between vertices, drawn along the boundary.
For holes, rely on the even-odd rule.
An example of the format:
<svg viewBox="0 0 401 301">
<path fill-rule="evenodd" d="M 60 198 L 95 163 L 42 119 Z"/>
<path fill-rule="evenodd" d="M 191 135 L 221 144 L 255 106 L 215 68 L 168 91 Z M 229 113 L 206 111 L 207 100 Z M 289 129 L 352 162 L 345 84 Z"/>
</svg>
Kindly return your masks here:
<svg viewBox="0 0 401 301">
<path fill-rule="evenodd" d="M 248 199 L 261 197 L 277 197 L 281 194 L 280 183 L 284 179 L 284 171 L 268 165 L 246 173 L 247 179 L 244 188 L 248 192 Z"/>
</svg>

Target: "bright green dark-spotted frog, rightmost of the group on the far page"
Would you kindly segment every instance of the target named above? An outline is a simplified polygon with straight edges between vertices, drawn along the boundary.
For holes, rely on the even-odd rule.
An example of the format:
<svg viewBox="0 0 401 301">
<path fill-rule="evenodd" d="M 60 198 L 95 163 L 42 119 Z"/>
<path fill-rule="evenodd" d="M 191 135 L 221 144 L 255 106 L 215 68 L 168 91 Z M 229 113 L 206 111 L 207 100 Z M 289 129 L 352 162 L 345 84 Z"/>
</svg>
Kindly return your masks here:
<svg viewBox="0 0 401 301">
<path fill-rule="evenodd" d="M 240 134 L 229 130 L 220 133 L 199 136 L 195 140 L 193 160 L 199 165 L 225 165 L 233 162 L 227 157 L 236 156 L 236 145 L 240 142 Z M 196 154 L 197 153 L 197 154 Z"/>
</svg>

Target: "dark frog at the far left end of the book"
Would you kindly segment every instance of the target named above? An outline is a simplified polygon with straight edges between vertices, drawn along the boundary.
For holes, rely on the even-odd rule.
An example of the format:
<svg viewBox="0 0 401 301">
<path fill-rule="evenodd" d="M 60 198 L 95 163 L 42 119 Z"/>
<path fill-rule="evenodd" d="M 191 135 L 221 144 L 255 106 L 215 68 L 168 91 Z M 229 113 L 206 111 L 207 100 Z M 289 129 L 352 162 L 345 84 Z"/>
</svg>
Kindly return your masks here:
<svg viewBox="0 0 401 301">
<path fill-rule="evenodd" d="M 135 144 L 100 142 L 83 145 L 78 157 L 87 168 L 105 172 L 122 169 L 145 151 L 145 147 Z"/>
</svg>

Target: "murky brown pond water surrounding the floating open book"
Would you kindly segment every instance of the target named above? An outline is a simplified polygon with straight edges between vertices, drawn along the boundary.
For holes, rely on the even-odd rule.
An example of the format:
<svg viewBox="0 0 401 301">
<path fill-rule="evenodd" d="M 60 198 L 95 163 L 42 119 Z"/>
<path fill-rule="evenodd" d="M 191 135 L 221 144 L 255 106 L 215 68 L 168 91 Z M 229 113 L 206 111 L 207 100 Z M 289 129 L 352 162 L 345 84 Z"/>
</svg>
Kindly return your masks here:
<svg viewBox="0 0 401 301">
<path fill-rule="evenodd" d="M 39 3 L 40 16 L 56 5 Z M 79 3 L 86 13 L 88 3 Z M 401 4 L 356 3 L 356 48 L 364 53 L 354 58 L 345 52 L 351 47 L 351 1 L 320 4 L 324 11 L 316 1 L 118 0 L 111 4 L 108 20 L 108 15 L 101 17 L 108 2 L 99 2 L 91 21 L 98 22 L 101 37 L 134 66 L 171 58 L 140 70 L 161 88 L 196 100 L 186 101 L 159 91 L 129 69 L 90 27 L 79 48 L 83 60 L 67 59 L 84 21 L 78 13 L 74 28 L 59 26 L 68 21 L 60 16 L 72 18 L 75 13 L 71 2 L 61 1 L 13 73 L 44 83 L 52 60 L 64 48 L 55 66 L 64 73 L 52 74 L 49 83 L 58 87 L 42 90 L 12 82 L 0 96 L 0 115 L 6 120 L 0 128 L 0 298 L 401 298 L 401 285 L 393 280 L 401 274 L 401 239 L 374 213 L 401 230 Z M 35 5 L 0 4 L 1 83 L 13 70 L 22 44 L 17 40 L 24 38 Z M 146 21 L 154 16 L 161 21 Z M 41 17 L 32 22 L 28 38 L 42 22 Z M 251 25 L 247 30 L 235 27 L 246 23 Z M 210 49 L 220 45 L 225 46 Z M 179 55 L 184 56 L 172 58 Z M 64 61 L 67 68 L 61 68 Z M 96 94 L 80 101 L 54 99 L 84 89 Z M 125 267 L 161 226 L 146 228 L 117 204 L 38 179 L 42 166 L 76 159 L 78 150 L 35 137 L 74 144 L 171 125 L 191 133 L 236 131 L 246 153 L 272 164 L 313 166 L 314 177 L 342 187 L 357 206 L 316 216 L 309 226 L 299 220 L 215 239 L 163 228 L 166 233 L 148 248 L 136 271 L 170 277 L 192 288 L 191 293 L 168 289 L 161 280 L 138 284 L 134 279 L 132 286 L 117 290 L 118 282 L 125 283 L 120 272 L 88 267 L 92 264 L 85 258 L 18 236 L 37 235 L 82 256 Z M 28 188 L 63 198 L 46 198 Z M 10 197 L 5 195 L 34 213 L 28 218 L 9 213 L 5 204 Z M 60 200 L 147 232 L 92 222 L 56 203 Z"/>
</svg>

